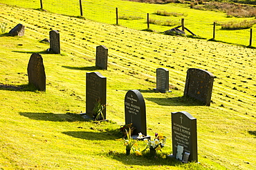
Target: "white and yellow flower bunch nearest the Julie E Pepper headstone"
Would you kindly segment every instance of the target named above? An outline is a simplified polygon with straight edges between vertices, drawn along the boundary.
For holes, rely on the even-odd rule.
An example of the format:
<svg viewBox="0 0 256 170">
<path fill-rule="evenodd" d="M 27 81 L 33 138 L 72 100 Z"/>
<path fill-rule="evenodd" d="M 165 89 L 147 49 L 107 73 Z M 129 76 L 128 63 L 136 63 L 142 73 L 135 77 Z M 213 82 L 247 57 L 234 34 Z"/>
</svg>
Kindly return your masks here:
<svg viewBox="0 0 256 170">
<path fill-rule="evenodd" d="M 155 156 L 156 151 L 161 151 L 161 149 L 165 146 L 166 137 L 163 136 L 163 134 L 156 133 L 154 140 L 145 138 L 144 141 L 147 143 L 147 147 L 143 151 L 146 151 L 146 149 L 149 148 L 150 154 Z"/>
</svg>

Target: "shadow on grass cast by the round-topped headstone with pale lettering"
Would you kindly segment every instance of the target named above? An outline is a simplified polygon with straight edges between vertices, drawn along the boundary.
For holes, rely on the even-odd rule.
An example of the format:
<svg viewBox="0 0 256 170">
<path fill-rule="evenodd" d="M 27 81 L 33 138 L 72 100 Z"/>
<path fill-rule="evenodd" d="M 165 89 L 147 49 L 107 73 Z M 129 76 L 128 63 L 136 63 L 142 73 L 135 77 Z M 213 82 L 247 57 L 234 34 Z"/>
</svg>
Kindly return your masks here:
<svg viewBox="0 0 256 170">
<path fill-rule="evenodd" d="M 116 136 L 110 135 L 107 131 L 63 131 L 62 134 L 85 140 L 116 140 Z M 104 138 L 102 138 L 102 136 L 104 136 Z"/>
</svg>

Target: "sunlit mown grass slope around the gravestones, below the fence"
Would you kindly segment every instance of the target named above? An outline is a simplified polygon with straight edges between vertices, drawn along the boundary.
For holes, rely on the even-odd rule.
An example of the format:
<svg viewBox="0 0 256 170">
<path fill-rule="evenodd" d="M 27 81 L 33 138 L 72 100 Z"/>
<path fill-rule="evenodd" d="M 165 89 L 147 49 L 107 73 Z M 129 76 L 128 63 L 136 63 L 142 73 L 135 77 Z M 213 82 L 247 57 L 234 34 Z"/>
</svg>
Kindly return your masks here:
<svg viewBox="0 0 256 170">
<path fill-rule="evenodd" d="M 205 40 L 165 36 L 75 17 L 1 5 L 8 31 L 26 25 L 26 35 L 0 35 L 1 169 L 255 169 L 255 50 Z M 46 54 L 50 30 L 59 30 L 62 54 Z M 109 48 L 108 70 L 96 70 L 95 47 Z M 46 92 L 26 87 L 26 67 L 39 52 Z M 172 93 L 154 93 L 156 68 L 170 71 Z M 183 98 L 188 68 L 212 72 L 212 103 Z M 85 74 L 107 77 L 107 119 L 93 123 L 85 111 Z M 197 118 L 199 162 L 125 156 L 116 129 L 125 123 L 124 98 L 140 89 L 147 107 L 147 131 L 163 132 L 172 152 L 170 113 Z"/>
</svg>

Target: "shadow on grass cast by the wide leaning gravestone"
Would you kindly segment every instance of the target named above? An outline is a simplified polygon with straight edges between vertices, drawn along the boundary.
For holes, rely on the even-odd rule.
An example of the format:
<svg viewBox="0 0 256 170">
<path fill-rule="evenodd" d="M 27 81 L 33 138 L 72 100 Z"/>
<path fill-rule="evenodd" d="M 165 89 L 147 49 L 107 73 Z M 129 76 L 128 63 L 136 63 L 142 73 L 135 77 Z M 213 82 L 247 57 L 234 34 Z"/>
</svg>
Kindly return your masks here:
<svg viewBox="0 0 256 170">
<path fill-rule="evenodd" d="M 152 101 L 158 105 L 165 106 L 203 106 L 199 100 L 188 96 L 174 97 L 174 98 L 145 98 L 149 101 Z"/>
</svg>

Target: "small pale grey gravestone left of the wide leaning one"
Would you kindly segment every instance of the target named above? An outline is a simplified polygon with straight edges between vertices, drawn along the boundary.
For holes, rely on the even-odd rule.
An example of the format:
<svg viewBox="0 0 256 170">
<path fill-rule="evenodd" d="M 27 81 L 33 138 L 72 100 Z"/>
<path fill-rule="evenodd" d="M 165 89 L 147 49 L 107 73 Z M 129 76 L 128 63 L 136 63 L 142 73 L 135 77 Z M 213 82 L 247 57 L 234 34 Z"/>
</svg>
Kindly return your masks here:
<svg viewBox="0 0 256 170">
<path fill-rule="evenodd" d="M 170 92 L 169 91 L 169 70 L 165 68 L 156 69 L 156 89 L 155 92 Z"/>
</svg>

